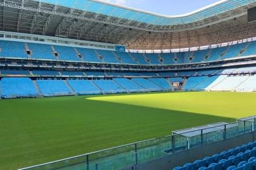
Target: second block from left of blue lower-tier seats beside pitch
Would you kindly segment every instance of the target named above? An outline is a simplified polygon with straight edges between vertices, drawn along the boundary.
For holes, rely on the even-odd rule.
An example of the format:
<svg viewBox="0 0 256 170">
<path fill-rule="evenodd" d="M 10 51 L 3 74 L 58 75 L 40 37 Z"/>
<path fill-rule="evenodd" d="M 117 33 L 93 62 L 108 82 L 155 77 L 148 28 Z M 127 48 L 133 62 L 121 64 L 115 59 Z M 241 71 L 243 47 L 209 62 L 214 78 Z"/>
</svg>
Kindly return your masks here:
<svg viewBox="0 0 256 170">
<path fill-rule="evenodd" d="M 67 96 L 73 94 L 62 80 L 38 80 L 37 84 L 44 96 Z"/>
</svg>

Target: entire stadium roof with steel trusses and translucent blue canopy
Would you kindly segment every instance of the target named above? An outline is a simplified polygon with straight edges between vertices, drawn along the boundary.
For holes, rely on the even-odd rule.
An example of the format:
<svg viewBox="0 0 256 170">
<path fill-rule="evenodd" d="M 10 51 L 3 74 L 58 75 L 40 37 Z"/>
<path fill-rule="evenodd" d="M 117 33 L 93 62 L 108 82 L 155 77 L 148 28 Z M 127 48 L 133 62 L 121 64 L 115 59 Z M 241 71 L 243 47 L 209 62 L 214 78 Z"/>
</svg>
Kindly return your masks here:
<svg viewBox="0 0 256 170">
<path fill-rule="evenodd" d="M 256 0 L 223 0 L 189 14 L 165 16 L 99 0 L 0 0 L 0 26 L 129 49 L 197 47 L 256 37 L 247 8 Z"/>
</svg>

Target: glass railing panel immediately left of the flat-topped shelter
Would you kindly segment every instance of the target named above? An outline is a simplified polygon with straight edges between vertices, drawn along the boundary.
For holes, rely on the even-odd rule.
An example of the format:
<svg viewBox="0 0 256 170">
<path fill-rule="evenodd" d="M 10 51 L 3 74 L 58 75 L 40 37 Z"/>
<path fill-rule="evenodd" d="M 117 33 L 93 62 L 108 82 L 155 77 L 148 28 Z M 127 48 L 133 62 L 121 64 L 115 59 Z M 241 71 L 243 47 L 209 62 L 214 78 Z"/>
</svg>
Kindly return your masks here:
<svg viewBox="0 0 256 170">
<path fill-rule="evenodd" d="M 138 163 L 150 161 L 172 153 L 172 136 L 137 143 Z"/>
</svg>

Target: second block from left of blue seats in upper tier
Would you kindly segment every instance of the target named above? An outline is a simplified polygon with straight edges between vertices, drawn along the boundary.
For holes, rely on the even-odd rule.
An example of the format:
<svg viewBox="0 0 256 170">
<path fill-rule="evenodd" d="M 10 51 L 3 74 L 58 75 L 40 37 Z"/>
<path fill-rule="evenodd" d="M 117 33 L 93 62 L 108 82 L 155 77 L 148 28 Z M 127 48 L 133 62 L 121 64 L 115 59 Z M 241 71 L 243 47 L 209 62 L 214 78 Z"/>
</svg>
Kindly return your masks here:
<svg viewBox="0 0 256 170">
<path fill-rule="evenodd" d="M 28 43 L 28 48 L 32 51 L 31 52 L 32 59 L 49 59 L 49 60 L 57 59 L 54 56 L 52 52 L 52 47 L 50 45 L 41 44 L 41 43 Z"/>
</svg>

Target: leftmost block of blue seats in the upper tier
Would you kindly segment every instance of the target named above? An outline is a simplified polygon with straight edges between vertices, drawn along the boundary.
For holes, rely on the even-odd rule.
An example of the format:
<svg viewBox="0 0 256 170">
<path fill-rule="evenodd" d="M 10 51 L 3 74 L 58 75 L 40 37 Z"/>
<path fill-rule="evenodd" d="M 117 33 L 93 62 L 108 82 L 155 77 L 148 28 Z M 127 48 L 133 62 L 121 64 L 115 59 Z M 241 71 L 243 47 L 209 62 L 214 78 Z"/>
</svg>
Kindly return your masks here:
<svg viewBox="0 0 256 170">
<path fill-rule="evenodd" d="M 25 43 L 0 40 L 0 55 L 2 57 L 28 58 Z"/>
</svg>

